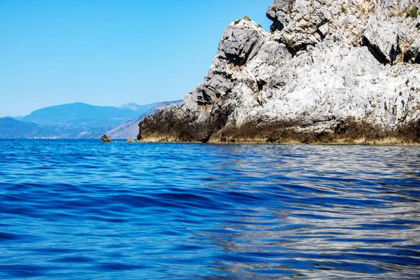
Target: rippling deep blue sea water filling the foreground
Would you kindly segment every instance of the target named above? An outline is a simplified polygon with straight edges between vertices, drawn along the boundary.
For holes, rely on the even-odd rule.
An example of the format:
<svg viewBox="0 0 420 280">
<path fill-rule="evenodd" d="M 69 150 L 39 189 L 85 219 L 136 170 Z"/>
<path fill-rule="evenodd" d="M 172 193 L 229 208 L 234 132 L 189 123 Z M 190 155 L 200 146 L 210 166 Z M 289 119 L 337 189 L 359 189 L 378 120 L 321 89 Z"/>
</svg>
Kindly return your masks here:
<svg viewBox="0 0 420 280">
<path fill-rule="evenodd" d="M 0 141 L 0 279 L 420 279 L 420 147 Z"/>
</svg>

